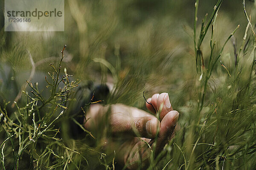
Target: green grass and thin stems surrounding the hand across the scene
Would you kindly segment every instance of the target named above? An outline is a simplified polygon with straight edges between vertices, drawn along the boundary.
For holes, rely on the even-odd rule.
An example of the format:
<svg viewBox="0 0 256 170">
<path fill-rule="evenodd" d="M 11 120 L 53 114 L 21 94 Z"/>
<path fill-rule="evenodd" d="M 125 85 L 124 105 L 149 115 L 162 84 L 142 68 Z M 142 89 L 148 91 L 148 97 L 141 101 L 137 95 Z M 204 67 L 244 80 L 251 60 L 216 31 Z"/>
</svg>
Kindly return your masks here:
<svg viewBox="0 0 256 170">
<path fill-rule="evenodd" d="M 75 119 L 76 89 L 110 82 L 104 104 L 145 109 L 143 91 L 168 92 L 180 112 L 180 131 L 149 169 L 255 169 L 255 3 L 195 3 L 67 0 L 64 32 L 2 28 L 1 168 L 122 169 L 102 144 L 108 126 L 89 132 Z"/>
</svg>

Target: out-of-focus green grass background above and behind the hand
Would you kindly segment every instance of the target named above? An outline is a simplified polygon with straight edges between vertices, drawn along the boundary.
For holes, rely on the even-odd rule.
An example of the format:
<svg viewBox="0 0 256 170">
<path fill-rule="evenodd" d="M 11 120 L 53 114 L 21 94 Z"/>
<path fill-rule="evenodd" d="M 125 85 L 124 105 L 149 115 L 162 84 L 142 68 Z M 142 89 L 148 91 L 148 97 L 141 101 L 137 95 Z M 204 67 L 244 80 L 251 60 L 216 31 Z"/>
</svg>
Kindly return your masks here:
<svg viewBox="0 0 256 170">
<path fill-rule="evenodd" d="M 4 32 L 2 29 L 1 63 L 10 65 L 15 71 L 14 78 L 18 79 L 18 74 L 29 73 L 32 67 L 27 50 L 37 62 L 60 56 L 60 49 L 67 44 L 68 59 L 64 66 L 69 74 L 80 80 L 113 82 L 110 71 L 93 62 L 95 58 L 106 59 L 114 68 L 119 66 L 116 68 L 119 83 L 124 79 L 134 80 L 129 77 L 136 79 L 136 83 L 129 84 L 133 90 L 115 102 L 142 106 L 142 91 L 177 93 L 187 85 L 186 81 L 198 76 L 194 69 L 192 39 L 194 3 L 193 0 L 65 1 L 64 32 Z M 200 2 L 198 26 L 204 15 L 212 12 L 215 3 L 215 0 Z M 4 6 L 3 1 L 1 6 Z M 247 1 L 249 13 L 253 7 L 254 3 Z M 3 28 L 3 15 L 0 23 Z M 247 25 L 242 2 L 224 1 L 215 26 L 218 46 L 238 24 L 241 27 L 236 37 L 241 40 Z M 232 62 L 232 44 L 228 43 L 225 50 L 230 52 Z M 203 54 L 208 57 L 208 46 L 203 48 Z M 117 55 L 120 57 L 118 65 Z M 41 64 L 36 70 L 46 72 L 50 62 L 56 61 Z M 121 83 L 119 88 L 125 90 Z M 173 105 L 183 105 L 191 97 L 189 93 L 171 95 Z"/>
</svg>

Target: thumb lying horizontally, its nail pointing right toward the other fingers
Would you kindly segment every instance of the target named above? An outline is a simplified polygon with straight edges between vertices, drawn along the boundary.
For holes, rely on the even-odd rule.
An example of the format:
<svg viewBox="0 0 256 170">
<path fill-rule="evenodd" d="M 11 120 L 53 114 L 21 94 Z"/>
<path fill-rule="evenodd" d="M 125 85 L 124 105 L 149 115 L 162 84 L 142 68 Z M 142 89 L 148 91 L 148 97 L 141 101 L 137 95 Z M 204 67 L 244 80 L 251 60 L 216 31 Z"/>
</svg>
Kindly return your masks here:
<svg viewBox="0 0 256 170">
<path fill-rule="evenodd" d="M 130 133 L 134 136 L 152 139 L 156 136 L 159 127 L 159 120 L 153 116 L 131 117 L 122 113 L 111 116 L 113 133 Z"/>
</svg>

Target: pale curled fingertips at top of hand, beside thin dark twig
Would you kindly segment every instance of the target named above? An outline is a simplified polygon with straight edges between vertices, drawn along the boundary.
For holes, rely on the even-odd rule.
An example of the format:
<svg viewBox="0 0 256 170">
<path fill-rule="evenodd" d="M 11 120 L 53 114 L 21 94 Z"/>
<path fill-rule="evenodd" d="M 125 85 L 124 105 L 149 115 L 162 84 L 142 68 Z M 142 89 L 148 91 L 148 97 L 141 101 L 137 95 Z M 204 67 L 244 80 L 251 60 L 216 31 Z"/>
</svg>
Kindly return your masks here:
<svg viewBox="0 0 256 170">
<path fill-rule="evenodd" d="M 149 103 L 151 103 L 154 106 L 154 109 L 156 111 L 160 110 L 160 108 L 163 105 L 162 111 L 160 113 L 160 121 L 163 119 L 163 117 L 172 111 L 172 105 L 169 99 L 169 94 L 168 93 L 161 93 L 161 94 L 154 94 L 151 98 L 147 100 Z M 148 104 L 146 102 L 146 107 L 148 108 L 149 111 L 152 113 L 155 113 L 152 105 Z"/>
</svg>

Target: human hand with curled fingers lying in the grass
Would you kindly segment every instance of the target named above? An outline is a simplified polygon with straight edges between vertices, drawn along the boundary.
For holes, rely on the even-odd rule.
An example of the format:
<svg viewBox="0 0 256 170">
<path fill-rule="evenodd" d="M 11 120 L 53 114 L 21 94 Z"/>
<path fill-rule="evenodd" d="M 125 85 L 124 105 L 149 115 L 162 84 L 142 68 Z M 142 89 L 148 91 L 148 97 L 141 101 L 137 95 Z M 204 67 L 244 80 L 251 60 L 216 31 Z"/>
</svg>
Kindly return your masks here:
<svg viewBox="0 0 256 170">
<path fill-rule="evenodd" d="M 108 140 L 108 147 L 116 149 L 118 156 L 124 164 L 129 164 L 128 169 L 136 169 L 138 162 L 143 163 L 143 167 L 147 167 L 148 158 L 151 153 L 152 145 L 155 140 L 156 154 L 163 150 L 163 147 L 172 139 L 179 113 L 173 111 L 167 93 L 154 94 L 147 99 L 146 107 L 155 114 L 155 111 L 161 112 L 158 120 L 155 116 L 138 108 L 129 107 L 122 104 L 110 105 L 103 107 L 96 104 L 91 105 L 87 117 L 90 117 L 84 127 L 90 129 L 93 125 L 97 126 L 97 121 L 104 116 L 110 107 L 110 127 L 114 136 L 122 136 L 121 146 L 115 140 Z M 157 136 L 157 131 L 159 134 Z M 139 136 L 139 137 L 138 137 Z M 157 138 L 156 138 L 157 136 Z M 118 146 L 118 147 L 117 147 Z"/>
</svg>

